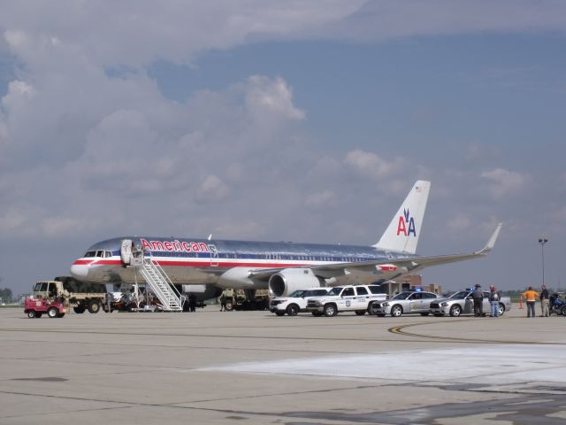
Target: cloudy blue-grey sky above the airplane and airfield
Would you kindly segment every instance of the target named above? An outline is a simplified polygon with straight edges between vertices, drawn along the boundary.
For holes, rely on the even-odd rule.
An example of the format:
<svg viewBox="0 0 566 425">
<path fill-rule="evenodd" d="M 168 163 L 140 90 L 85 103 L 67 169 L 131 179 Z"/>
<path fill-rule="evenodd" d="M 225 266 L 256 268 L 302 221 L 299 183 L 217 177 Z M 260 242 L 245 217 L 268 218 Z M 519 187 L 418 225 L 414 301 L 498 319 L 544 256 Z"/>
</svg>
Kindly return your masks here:
<svg viewBox="0 0 566 425">
<path fill-rule="evenodd" d="M 566 288 L 566 3 L 0 3 L 0 288 L 147 235 L 376 243 L 424 283 Z M 544 248 L 539 237 L 547 237 Z"/>
</svg>

